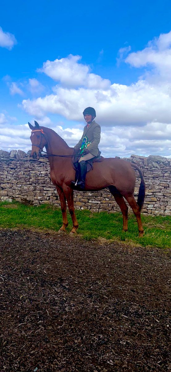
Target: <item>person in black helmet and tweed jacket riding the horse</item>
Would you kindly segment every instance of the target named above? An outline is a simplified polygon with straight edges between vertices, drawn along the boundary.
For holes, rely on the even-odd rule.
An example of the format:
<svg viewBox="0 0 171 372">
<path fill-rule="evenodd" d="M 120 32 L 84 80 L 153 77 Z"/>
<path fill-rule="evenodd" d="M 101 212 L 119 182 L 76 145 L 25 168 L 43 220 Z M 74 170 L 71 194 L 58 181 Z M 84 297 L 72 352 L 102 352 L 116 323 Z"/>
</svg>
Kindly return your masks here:
<svg viewBox="0 0 171 372">
<path fill-rule="evenodd" d="M 98 155 L 100 155 L 100 151 L 98 149 L 98 144 L 100 142 L 100 132 L 101 128 L 98 125 L 94 118 L 96 117 L 96 113 L 93 107 L 87 107 L 83 111 L 84 119 L 86 120 L 87 125 L 84 127 L 83 135 L 81 140 L 74 146 L 76 153 L 80 153 L 83 155 L 78 160 L 79 162 L 79 175 L 78 175 L 78 182 L 72 181 L 72 185 L 74 188 L 79 190 L 84 190 L 85 187 L 85 179 L 86 179 L 86 161 L 90 160 Z M 81 148 L 81 150 L 80 150 Z"/>
</svg>

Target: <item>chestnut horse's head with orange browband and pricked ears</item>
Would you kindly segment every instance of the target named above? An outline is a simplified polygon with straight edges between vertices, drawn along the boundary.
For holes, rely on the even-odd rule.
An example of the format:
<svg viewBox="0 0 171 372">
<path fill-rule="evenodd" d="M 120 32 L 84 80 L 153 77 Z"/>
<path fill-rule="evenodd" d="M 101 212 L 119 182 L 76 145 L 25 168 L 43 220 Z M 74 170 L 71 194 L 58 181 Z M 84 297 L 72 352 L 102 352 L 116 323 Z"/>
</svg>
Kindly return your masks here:
<svg viewBox="0 0 171 372">
<path fill-rule="evenodd" d="M 32 143 L 31 156 L 33 159 L 39 159 L 43 147 L 47 144 L 43 129 L 39 126 L 37 121 L 34 121 L 35 126 L 28 123 L 31 130 L 30 140 Z"/>
</svg>

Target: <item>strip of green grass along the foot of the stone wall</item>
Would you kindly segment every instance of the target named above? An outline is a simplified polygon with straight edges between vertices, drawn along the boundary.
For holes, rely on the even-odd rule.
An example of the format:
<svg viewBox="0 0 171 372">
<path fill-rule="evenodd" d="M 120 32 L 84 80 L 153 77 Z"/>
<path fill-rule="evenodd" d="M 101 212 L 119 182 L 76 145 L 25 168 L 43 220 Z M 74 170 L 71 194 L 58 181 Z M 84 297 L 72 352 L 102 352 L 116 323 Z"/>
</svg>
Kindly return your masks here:
<svg viewBox="0 0 171 372">
<path fill-rule="evenodd" d="M 171 248 L 171 217 L 142 215 L 144 237 L 138 238 L 138 225 L 133 214 L 128 216 L 128 232 L 122 231 L 122 214 L 107 212 L 91 213 L 76 211 L 78 233 L 86 240 L 115 239 L 126 243 L 139 244 L 144 247 Z M 68 215 L 69 232 L 72 221 Z M 58 231 L 62 225 L 60 208 L 50 205 L 30 206 L 17 203 L 0 202 L 1 228 L 36 228 L 39 230 Z"/>
</svg>

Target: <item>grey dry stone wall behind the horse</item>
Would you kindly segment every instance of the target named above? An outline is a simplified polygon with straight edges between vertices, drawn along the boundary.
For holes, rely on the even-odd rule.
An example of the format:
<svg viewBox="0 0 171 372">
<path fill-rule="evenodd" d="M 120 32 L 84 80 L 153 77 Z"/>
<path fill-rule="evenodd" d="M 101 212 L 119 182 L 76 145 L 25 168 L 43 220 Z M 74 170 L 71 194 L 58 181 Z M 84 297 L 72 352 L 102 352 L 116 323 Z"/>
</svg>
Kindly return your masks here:
<svg viewBox="0 0 171 372">
<path fill-rule="evenodd" d="M 131 155 L 124 158 L 137 164 L 143 174 L 146 196 L 142 212 L 155 215 L 171 215 L 171 159 L 161 156 L 142 157 Z M 136 171 L 135 198 L 140 186 Z M 56 188 L 50 180 L 50 166 L 47 159 L 39 161 L 30 157 L 30 151 L 0 150 L 0 199 L 30 203 L 32 205 L 53 204 L 60 206 Z M 99 192 L 74 192 L 76 209 L 92 212 L 120 211 L 108 189 Z"/>
</svg>

